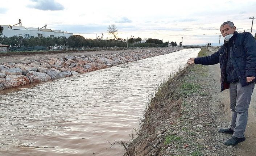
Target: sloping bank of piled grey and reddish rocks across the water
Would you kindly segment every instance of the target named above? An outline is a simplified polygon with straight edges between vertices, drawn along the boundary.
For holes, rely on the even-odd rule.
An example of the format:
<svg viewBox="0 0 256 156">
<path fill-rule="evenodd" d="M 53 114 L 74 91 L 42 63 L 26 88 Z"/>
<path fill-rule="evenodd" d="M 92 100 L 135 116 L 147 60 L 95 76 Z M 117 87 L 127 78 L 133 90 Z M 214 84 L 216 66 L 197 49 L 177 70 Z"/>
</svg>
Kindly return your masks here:
<svg viewBox="0 0 256 156">
<path fill-rule="evenodd" d="M 66 56 L 48 60 L 25 60 L 0 65 L 0 90 L 83 74 L 153 56 L 182 50 L 182 47 L 138 50 L 90 56 Z"/>
</svg>

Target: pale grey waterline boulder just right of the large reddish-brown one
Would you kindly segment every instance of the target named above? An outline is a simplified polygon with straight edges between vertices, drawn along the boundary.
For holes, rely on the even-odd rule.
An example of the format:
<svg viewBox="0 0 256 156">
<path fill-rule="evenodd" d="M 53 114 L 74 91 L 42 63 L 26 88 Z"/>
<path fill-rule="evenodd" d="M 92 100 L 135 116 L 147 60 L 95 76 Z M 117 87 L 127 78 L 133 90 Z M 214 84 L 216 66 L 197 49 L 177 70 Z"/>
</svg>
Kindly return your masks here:
<svg viewBox="0 0 256 156">
<path fill-rule="evenodd" d="M 29 78 L 30 83 L 45 82 L 51 79 L 51 77 L 46 73 L 34 71 L 29 71 L 28 73 L 26 73 L 26 76 Z"/>
</svg>

